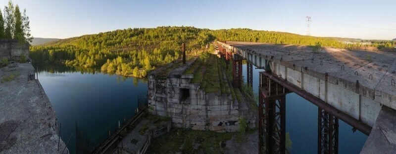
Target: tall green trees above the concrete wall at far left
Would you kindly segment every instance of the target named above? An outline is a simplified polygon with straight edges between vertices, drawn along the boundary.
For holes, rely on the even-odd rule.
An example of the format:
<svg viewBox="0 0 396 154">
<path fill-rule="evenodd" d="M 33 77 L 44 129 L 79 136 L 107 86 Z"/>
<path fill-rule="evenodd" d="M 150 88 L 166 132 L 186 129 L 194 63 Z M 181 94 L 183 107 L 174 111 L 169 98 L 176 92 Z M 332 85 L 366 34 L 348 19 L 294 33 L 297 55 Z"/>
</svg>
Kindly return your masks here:
<svg viewBox="0 0 396 154">
<path fill-rule="evenodd" d="M 26 9 L 21 13 L 18 4 L 11 0 L 0 10 L 0 39 L 14 39 L 19 42 L 32 42 L 29 17 Z"/>
</svg>

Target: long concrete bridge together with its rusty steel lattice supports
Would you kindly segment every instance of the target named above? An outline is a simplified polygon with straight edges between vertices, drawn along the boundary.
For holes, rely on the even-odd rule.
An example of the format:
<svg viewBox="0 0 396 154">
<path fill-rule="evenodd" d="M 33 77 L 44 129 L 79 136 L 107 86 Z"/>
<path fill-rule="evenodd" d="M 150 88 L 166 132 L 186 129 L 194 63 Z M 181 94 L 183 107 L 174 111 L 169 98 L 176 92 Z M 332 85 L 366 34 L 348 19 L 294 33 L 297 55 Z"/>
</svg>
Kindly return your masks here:
<svg viewBox="0 0 396 154">
<path fill-rule="evenodd" d="M 296 93 L 318 106 L 318 153 L 338 153 L 339 119 L 368 135 L 363 154 L 395 152 L 396 54 L 248 42 L 217 42 L 232 61 L 233 85 L 246 59 L 262 68 L 259 79 L 259 151 L 285 152 L 285 96 Z"/>
</svg>

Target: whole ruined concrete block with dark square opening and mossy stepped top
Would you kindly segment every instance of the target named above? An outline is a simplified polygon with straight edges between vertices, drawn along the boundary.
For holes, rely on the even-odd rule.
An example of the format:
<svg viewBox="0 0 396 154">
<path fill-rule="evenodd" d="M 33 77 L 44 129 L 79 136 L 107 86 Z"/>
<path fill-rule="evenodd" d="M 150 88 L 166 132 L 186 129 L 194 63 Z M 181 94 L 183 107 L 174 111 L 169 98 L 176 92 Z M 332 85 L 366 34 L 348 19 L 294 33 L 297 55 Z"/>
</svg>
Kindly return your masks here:
<svg viewBox="0 0 396 154">
<path fill-rule="evenodd" d="M 148 75 L 148 110 L 168 116 L 172 127 L 234 132 L 256 127 L 257 111 L 232 86 L 228 64 L 215 54 L 175 61 Z"/>
</svg>

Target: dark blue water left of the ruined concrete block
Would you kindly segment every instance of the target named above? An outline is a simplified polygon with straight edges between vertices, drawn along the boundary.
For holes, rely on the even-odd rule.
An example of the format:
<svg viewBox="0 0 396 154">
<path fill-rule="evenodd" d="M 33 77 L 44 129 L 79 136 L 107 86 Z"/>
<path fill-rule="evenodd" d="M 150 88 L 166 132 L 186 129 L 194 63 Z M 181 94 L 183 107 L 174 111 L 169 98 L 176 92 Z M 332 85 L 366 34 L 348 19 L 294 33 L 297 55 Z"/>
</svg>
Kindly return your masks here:
<svg viewBox="0 0 396 154">
<path fill-rule="evenodd" d="M 131 118 L 147 95 L 147 79 L 103 74 L 99 68 L 35 64 L 69 151 L 88 151 Z M 141 100 L 141 101 L 138 101 Z"/>
</svg>

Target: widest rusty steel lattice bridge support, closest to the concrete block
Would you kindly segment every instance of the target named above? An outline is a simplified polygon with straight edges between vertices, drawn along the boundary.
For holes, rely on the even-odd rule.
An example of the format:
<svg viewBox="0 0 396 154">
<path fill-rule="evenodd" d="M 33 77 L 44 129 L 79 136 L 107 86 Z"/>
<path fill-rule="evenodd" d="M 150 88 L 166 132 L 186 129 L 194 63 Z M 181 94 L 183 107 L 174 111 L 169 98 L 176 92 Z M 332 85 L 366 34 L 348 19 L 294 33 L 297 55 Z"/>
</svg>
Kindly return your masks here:
<svg viewBox="0 0 396 154">
<path fill-rule="evenodd" d="M 286 94 L 288 90 L 260 74 L 259 153 L 286 153 Z"/>
</svg>

